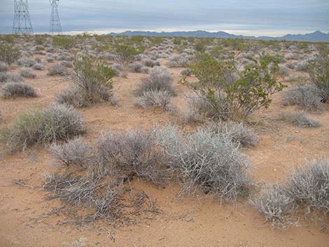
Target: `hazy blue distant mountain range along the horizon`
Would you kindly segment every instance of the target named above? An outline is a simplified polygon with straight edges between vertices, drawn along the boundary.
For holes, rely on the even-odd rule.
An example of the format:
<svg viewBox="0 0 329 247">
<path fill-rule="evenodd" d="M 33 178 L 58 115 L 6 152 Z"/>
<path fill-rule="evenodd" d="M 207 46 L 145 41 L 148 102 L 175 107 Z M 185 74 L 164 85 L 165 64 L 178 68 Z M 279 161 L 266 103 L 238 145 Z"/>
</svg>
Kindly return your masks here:
<svg viewBox="0 0 329 247">
<path fill-rule="evenodd" d="M 123 33 L 111 33 L 107 35 L 118 36 L 162 36 L 162 37 L 196 37 L 196 38 L 248 38 L 256 40 L 286 40 L 286 41 L 309 41 L 309 42 L 329 42 L 329 33 L 325 34 L 321 31 L 314 31 L 311 34 L 287 34 L 281 37 L 270 36 L 243 36 L 228 34 L 225 31 L 209 32 L 209 31 L 172 31 L 172 32 L 156 32 L 156 31 L 124 31 Z"/>
</svg>

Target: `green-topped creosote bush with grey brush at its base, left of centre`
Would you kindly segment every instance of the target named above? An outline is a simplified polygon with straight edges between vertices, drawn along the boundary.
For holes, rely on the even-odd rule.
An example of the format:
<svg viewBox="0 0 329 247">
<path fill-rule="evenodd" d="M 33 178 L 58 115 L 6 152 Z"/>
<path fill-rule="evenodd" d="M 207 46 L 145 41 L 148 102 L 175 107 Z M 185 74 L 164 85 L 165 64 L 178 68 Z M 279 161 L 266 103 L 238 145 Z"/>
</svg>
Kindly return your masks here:
<svg viewBox="0 0 329 247">
<path fill-rule="evenodd" d="M 88 106 L 100 101 L 117 104 L 118 101 L 111 91 L 113 87 L 111 79 L 115 73 L 104 62 L 80 55 L 73 61 L 73 71 L 69 75 L 74 87 L 57 95 L 57 101 L 76 107 Z"/>
</svg>

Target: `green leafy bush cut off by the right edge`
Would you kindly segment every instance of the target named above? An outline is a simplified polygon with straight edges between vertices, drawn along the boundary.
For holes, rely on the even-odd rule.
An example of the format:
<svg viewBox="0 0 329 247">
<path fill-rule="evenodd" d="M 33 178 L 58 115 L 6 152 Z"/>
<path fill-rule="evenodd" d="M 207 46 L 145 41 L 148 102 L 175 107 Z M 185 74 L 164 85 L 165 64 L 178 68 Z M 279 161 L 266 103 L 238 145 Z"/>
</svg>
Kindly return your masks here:
<svg viewBox="0 0 329 247">
<path fill-rule="evenodd" d="M 311 82 L 318 87 L 325 102 L 329 99 L 329 56 L 318 56 L 308 66 Z"/>
</svg>

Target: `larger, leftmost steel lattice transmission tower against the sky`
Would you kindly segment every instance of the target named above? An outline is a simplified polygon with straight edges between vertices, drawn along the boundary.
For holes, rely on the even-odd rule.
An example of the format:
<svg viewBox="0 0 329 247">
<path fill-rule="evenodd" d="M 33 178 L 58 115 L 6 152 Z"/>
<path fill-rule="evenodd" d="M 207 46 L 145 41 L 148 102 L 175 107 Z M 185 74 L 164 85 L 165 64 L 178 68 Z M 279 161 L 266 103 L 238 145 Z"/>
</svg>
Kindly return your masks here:
<svg viewBox="0 0 329 247">
<path fill-rule="evenodd" d="M 14 0 L 13 34 L 33 34 L 27 0 Z"/>
</svg>

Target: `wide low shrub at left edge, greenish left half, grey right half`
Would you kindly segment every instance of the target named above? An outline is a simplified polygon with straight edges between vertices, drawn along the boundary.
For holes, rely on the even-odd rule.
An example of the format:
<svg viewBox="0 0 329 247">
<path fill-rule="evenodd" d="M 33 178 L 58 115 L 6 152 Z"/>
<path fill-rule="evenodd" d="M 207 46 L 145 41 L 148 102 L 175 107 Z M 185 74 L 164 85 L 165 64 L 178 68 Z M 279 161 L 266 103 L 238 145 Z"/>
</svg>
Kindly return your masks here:
<svg viewBox="0 0 329 247">
<path fill-rule="evenodd" d="M 53 104 L 45 111 L 23 113 L 13 125 L 1 129 L 1 141 L 12 152 L 38 143 L 67 140 L 85 132 L 83 118 L 74 108 Z"/>
</svg>

